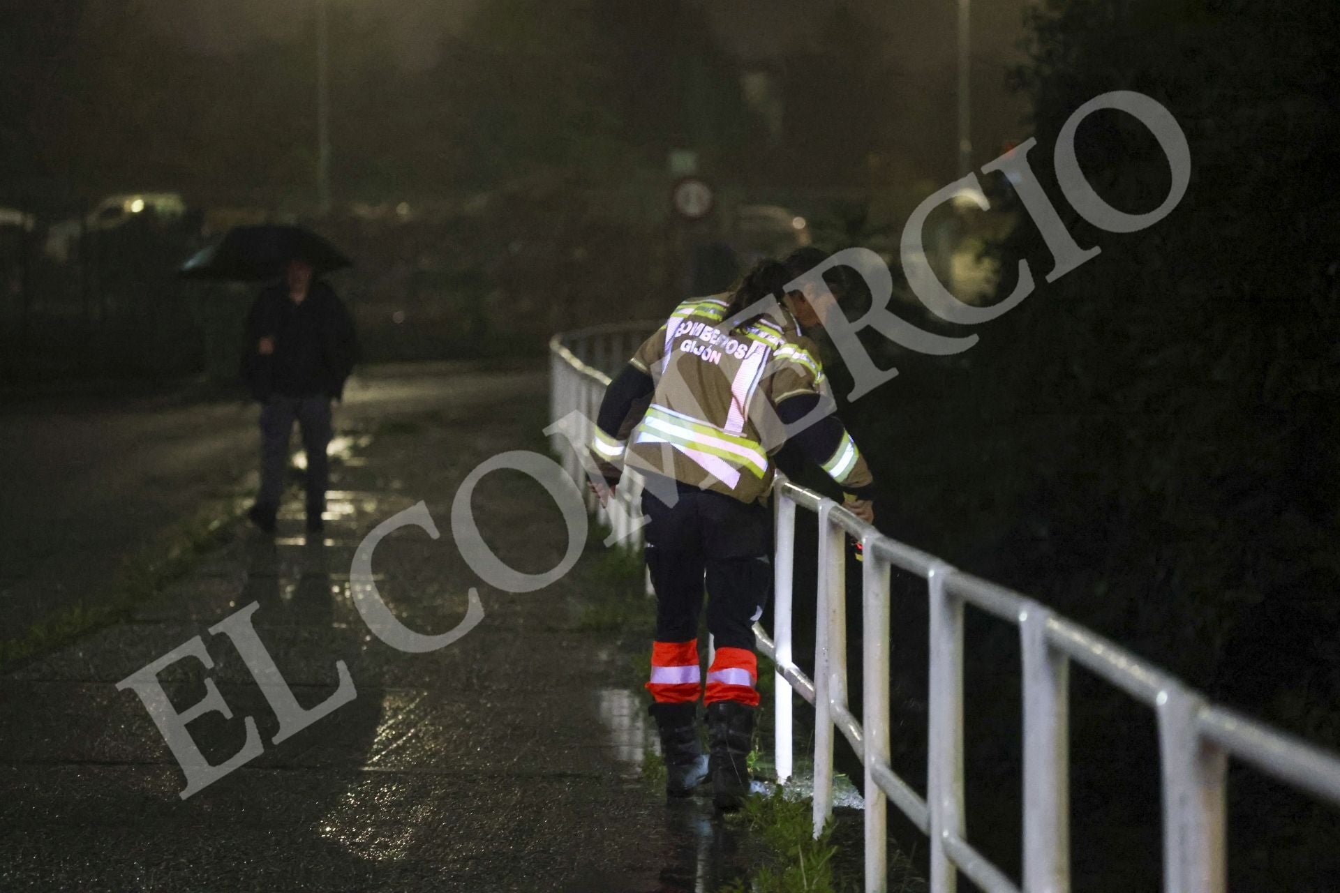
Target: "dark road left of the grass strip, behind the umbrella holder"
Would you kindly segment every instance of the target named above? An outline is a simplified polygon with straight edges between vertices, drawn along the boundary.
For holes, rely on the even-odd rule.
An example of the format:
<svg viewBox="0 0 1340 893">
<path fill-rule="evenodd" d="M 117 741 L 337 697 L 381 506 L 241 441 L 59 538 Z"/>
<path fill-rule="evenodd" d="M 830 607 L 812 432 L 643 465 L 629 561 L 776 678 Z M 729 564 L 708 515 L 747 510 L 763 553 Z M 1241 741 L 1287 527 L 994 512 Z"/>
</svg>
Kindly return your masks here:
<svg viewBox="0 0 1340 893">
<path fill-rule="evenodd" d="M 476 366 L 363 370 L 339 415 L 375 427 L 476 399 L 481 388 L 505 395 L 517 379 Z M 256 416 L 251 402 L 204 400 L 189 387 L 0 395 L 0 640 L 76 601 L 96 604 L 129 554 L 247 475 L 255 481 Z"/>
</svg>

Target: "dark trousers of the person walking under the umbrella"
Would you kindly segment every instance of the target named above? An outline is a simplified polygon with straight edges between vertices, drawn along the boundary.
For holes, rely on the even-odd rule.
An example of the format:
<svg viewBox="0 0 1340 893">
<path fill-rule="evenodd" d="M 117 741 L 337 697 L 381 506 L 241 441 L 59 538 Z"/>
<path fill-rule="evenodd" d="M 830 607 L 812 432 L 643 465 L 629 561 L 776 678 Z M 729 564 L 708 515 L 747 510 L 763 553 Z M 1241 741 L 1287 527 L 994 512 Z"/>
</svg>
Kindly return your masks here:
<svg viewBox="0 0 1340 893">
<path fill-rule="evenodd" d="M 260 411 L 260 495 L 256 505 L 269 511 L 279 509 L 295 419 L 303 435 L 303 453 L 307 454 L 307 513 L 319 515 L 326 510 L 326 487 L 330 483 L 326 447 L 331 442 L 331 400 L 324 395 L 272 394 L 265 400 Z"/>
</svg>

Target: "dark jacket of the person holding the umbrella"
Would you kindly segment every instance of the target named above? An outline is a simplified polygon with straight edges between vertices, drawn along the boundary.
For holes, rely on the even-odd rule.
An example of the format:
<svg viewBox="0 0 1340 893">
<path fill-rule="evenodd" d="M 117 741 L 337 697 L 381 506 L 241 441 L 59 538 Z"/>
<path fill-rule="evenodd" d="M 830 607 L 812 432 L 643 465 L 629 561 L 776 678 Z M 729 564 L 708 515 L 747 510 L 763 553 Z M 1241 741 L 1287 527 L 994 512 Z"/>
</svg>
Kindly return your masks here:
<svg viewBox="0 0 1340 893">
<path fill-rule="evenodd" d="M 291 300 L 284 284 L 271 285 L 256 297 L 247 315 L 241 378 L 252 396 L 260 402 L 275 392 L 275 357 L 285 349 L 284 339 L 276 335 L 287 309 L 284 301 Z M 308 372 L 322 392 L 338 400 L 343 396 L 344 382 L 358 360 L 354 320 L 335 291 L 323 281 L 312 282 L 303 304 L 306 319 L 315 324 L 318 340 L 312 360 L 315 366 Z M 276 337 L 273 355 L 261 356 L 259 347 L 263 337 Z"/>
</svg>

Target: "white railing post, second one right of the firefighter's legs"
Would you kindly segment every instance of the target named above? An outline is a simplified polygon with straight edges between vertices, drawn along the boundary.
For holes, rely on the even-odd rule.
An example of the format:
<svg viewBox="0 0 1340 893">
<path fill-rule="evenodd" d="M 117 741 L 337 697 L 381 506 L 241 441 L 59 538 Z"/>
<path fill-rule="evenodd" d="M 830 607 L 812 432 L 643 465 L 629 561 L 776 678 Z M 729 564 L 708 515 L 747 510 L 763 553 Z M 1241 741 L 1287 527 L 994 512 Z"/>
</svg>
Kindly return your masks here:
<svg viewBox="0 0 1340 893">
<path fill-rule="evenodd" d="M 835 641 L 833 602 L 843 596 L 842 537 L 843 532 L 828 521 L 833 507 L 831 499 L 819 506 L 819 585 L 815 604 L 815 837 L 823 834 L 824 823 L 833 811 L 833 657 Z M 833 540 L 838 548 L 833 548 Z M 836 593 L 836 597 L 835 597 Z"/>
</svg>

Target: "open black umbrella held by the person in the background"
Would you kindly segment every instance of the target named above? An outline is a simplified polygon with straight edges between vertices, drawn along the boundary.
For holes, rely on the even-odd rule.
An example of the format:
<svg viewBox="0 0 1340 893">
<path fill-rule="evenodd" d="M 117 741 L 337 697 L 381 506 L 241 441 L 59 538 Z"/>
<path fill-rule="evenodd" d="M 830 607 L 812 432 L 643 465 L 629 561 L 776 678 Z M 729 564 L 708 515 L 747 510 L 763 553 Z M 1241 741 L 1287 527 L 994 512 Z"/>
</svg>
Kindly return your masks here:
<svg viewBox="0 0 1340 893">
<path fill-rule="evenodd" d="M 279 278 L 300 258 L 318 274 L 352 266 L 334 245 L 302 226 L 234 226 L 217 245 L 201 250 L 178 270 L 182 278 L 256 282 Z"/>
</svg>

